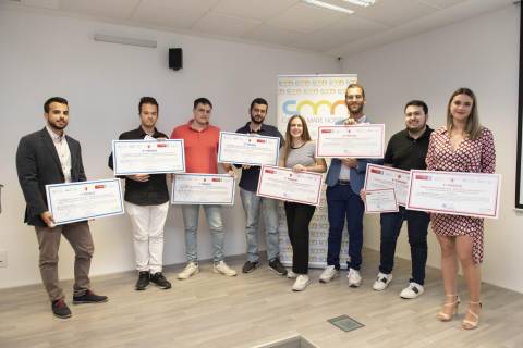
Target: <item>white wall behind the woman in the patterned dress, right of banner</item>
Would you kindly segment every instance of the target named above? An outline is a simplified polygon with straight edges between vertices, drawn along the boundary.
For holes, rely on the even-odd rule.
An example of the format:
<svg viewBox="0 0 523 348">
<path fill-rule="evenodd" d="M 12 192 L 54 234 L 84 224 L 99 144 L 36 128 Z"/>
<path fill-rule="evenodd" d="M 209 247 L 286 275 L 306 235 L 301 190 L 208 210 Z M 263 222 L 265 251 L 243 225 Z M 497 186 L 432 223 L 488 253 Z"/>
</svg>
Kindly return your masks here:
<svg viewBox="0 0 523 348">
<path fill-rule="evenodd" d="M 500 219 L 486 221 L 484 281 L 523 293 L 523 216 L 513 211 L 518 136 L 519 7 L 475 17 L 344 59 L 367 95 L 366 113 L 402 129 L 403 105 L 423 99 L 429 124 L 443 125 L 448 98 L 458 87 L 478 98 L 482 123 L 495 135 L 497 173 L 502 174 Z M 379 249 L 379 224 L 366 217 L 366 245 Z M 406 231 L 399 254 L 410 259 Z M 439 268 L 439 246 L 429 238 L 429 264 Z"/>
</svg>

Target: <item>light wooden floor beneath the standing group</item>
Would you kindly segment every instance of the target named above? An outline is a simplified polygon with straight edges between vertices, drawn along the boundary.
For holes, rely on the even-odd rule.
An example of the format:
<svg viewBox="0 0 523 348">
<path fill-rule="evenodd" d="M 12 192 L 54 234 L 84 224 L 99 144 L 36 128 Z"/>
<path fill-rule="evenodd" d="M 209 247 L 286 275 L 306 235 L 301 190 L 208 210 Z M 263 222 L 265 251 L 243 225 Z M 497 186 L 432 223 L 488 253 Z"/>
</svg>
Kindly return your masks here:
<svg viewBox="0 0 523 348">
<path fill-rule="evenodd" d="M 483 288 L 481 326 L 461 330 L 464 307 L 457 319 L 438 322 L 443 300 L 439 271 L 428 269 L 425 294 L 400 299 L 410 262 L 398 260 L 389 288 L 372 289 L 378 254 L 365 250 L 364 283 L 346 286 L 345 272 L 330 284 L 317 282 L 303 293 L 266 263 L 236 277 L 214 274 L 210 263 L 187 281 L 177 281 L 182 265 L 165 270 L 170 290 L 133 289 L 134 272 L 94 277 L 95 289 L 108 303 L 72 306 L 73 318 L 52 316 L 41 285 L 0 290 L 0 347 L 254 347 L 301 335 L 316 347 L 523 347 L 523 295 L 491 285 Z M 229 262 L 240 271 L 243 258 Z M 71 282 L 63 282 L 71 294 Z M 464 286 L 461 297 L 466 301 Z M 365 327 L 344 333 L 327 322 L 348 314 Z"/>
</svg>

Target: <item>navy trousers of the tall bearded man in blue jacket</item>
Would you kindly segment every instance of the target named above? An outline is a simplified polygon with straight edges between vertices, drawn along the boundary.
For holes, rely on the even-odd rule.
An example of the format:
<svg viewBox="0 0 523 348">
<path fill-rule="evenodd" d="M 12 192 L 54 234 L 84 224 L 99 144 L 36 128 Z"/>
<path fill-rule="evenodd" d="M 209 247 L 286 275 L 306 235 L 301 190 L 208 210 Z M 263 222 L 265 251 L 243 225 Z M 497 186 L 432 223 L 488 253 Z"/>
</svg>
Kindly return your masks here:
<svg viewBox="0 0 523 348">
<path fill-rule="evenodd" d="M 354 194 L 350 185 L 336 185 L 327 188 L 329 216 L 329 237 L 327 264 L 340 269 L 341 234 L 346 219 L 349 231 L 349 268 L 360 270 L 363 247 L 363 204 L 360 195 Z"/>
</svg>

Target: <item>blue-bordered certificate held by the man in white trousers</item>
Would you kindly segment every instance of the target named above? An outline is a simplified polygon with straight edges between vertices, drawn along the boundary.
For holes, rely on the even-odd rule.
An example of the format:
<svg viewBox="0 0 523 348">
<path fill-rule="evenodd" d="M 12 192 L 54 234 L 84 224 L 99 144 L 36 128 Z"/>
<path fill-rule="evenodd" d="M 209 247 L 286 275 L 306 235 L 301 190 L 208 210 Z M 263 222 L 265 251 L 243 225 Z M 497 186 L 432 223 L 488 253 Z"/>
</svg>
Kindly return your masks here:
<svg viewBox="0 0 523 348">
<path fill-rule="evenodd" d="M 114 175 L 185 172 L 183 139 L 112 140 Z"/>
</svg>

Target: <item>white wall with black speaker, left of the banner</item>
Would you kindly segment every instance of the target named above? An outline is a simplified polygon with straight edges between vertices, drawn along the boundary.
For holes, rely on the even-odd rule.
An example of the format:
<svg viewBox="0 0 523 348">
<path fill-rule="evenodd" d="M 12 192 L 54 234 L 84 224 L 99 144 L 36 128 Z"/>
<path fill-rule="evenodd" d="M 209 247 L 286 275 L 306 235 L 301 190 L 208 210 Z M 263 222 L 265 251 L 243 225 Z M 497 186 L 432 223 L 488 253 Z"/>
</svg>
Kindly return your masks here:
<svg viewBox="0 0 523 348">
<path fill-rule="evenodd" d="M 154 39 L 157 49 L 95 42 L 94 33 Z M 168 48 L 182 47 L 184 67 L 168 69 Z M 0 288 L 39 283 L 37 244 L 32 227 L 22 223 L 24 199 L 19 187 L 14 154 L 20 138 L 44 126 L 42 103 L 50 96 L 70 101 L 68 133 L 83 145 L 88 178 L 111 177 L 107 157 L 111 139 L 138 125 L 137 103 L 154 96 L 160 103 L 158 128 L 170 134 L 191 116 L 192 102 L 205 96 L 214 102 L 211 122 L 235 130 L 247 121 L 255 97 L 269 100 L 269 122 L 276 123 L 278 74 L 339 73 L 330 57 L 252 45 L 233 44 L 51 16 L 0 8 L 0 249 L 9 252 L 9 266 L 0 269 Z M 204 220 L 200 258 L 211 256 Z M 245 252 L 244 217 L 240 199 L 224 209 L 226 253 Z M 92 223 L 95 257 L 92 275 L 134 268 L 126 216 Z M 72 277 L 71 248 L 60 250 L 60 276 Z M 165 262 L 183 262 L 183 223 L 173 207 L 166 226 Z"/>
</svg>

